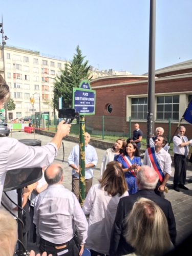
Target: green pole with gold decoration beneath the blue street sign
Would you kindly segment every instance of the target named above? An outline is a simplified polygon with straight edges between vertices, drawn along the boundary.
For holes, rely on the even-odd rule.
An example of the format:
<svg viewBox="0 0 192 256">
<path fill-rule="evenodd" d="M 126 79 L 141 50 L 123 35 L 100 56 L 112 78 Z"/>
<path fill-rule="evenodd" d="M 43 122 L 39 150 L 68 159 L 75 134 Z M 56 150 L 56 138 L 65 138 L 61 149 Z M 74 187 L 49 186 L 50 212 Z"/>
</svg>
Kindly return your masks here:
<svg viewBox="0 0 192 256">
<path fill-rule="evenodd" d="M 84 116 L 80 116 L 80 133 L 79 133 L 79 203 L 83 206 L 86 199 L 86 154 L 84 134 L 86 133 L 86 123 Z"/>
</svg>

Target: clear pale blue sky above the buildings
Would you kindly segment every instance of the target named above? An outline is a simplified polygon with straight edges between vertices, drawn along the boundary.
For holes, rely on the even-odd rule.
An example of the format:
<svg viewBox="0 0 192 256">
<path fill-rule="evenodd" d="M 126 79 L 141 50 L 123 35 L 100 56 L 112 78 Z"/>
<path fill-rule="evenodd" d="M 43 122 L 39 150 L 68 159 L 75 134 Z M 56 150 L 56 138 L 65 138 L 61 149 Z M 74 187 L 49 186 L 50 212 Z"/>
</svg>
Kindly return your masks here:
<svg viewBox="0 0 192 256">
<path fill-rule="evenodd" d="M 156 67 L 192 59 L 192 1 L 156 0 Z M 2 0 L 7 45 L 89 65 L 148 72 L 150 0 Z"/>
</svg>

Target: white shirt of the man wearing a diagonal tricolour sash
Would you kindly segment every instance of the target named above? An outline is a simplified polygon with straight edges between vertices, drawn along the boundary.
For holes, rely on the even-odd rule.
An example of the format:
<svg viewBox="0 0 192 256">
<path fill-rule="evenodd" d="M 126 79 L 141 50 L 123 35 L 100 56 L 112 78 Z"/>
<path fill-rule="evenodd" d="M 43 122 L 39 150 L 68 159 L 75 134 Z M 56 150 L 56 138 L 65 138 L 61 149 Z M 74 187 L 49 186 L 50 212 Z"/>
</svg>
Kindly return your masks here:
<svg viewBox="0 0 192 256">
<path fill-rule="evenodd" d="M 166 152 L 165 150 L 163 150 L 163 148 L 161 148 L 161 150 L 158 153 L 155 151 L 155 156 L 157 158 L 157 161 L 161 167 L 163 174 L 171 175 L 172 174 L 172 158 L 170 157 L 168 152 Z M 148 155 L 148 150 L 145 151 L 143 164 L 148 165 L 152 169 L 154 169 L 152 162 L 150 160 L 150 156 Z"/>
</svg>

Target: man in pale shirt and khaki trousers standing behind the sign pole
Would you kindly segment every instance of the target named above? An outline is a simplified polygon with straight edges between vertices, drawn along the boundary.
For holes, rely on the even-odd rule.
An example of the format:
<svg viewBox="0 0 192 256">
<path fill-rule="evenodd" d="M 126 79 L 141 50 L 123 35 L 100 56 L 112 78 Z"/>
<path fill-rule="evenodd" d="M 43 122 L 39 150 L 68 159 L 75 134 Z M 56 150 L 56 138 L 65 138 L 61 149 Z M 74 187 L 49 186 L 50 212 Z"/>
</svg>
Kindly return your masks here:
<svg viewBox="0 0 192 256">
<path fill-rule="evenodd" d="M 91 136 L 89 133 L 85 133 L 85 155 L 86 155 L 86 196 L 92 186 L 93 182 L 93 167 L 97 165 L 98 157 L 96 150 L 93 146 L 89 145 Z M 73 147 L 69 158 L 69 166 L 72 170 L 72 192 L 75 194 L 77 199 L 79 198 L 79 144 Z"/>
</svg>

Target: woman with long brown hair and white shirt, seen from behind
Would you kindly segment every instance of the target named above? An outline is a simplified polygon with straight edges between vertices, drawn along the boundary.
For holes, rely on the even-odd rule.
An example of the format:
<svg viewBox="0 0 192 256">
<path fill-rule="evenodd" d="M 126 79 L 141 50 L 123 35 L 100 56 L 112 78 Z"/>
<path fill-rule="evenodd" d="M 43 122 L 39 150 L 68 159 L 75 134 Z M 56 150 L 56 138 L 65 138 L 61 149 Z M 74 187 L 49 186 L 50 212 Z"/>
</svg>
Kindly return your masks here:
<svg viewBox="0 0 192 256">
<path fill-rule="evenodd" d="M 109 254 L 110 237 L 120 198 L 128 196 L 122 168 L 113 161 L 108 163 L 99 184 L 91 187 L 83 205 L 90 215 L 86 248 L 91 255 Z"/>
</svg>

